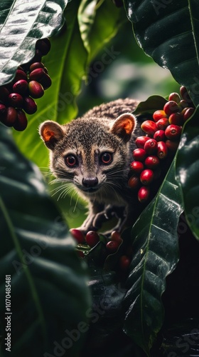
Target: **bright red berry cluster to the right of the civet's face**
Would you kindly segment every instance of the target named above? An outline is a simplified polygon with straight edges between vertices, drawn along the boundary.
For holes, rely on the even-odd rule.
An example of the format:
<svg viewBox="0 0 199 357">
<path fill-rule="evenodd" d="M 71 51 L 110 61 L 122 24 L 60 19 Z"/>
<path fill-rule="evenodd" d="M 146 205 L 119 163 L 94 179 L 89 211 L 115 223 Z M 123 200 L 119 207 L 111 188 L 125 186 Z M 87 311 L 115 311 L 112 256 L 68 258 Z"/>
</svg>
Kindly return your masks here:
<svg viewBox="0 0 199 357">
<path fill-rule="evenodd" d="M 145 136 L 136 138 L 138 149 L 133 151 L 134 161 L 128 185 L 139 189 L 138 199 L 146 202 L 150 196 L 150 184 L 161 175 L 161 162 L 168 154 L 175 153 L 181 138 L 182 126 L 194 112 L 194 105 L 185 86 L 181 86 L 181 96 L 171 93 L 163 110 L 156 110 L 153 120 L 141 124 Z"/>
</svg>

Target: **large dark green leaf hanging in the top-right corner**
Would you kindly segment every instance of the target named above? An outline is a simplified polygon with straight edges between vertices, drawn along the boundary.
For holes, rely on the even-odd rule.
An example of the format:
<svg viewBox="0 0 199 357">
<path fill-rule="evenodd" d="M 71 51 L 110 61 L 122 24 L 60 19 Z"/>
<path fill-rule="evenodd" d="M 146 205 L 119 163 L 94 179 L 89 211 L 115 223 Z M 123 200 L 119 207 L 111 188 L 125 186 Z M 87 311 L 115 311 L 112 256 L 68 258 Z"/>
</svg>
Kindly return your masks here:
<svg viewBox="0 0 199 357">
<path fill-rule="evenodd" d="M 124 0 L 139 45 L 199 103 L 199 2 Z"/>
</svg>

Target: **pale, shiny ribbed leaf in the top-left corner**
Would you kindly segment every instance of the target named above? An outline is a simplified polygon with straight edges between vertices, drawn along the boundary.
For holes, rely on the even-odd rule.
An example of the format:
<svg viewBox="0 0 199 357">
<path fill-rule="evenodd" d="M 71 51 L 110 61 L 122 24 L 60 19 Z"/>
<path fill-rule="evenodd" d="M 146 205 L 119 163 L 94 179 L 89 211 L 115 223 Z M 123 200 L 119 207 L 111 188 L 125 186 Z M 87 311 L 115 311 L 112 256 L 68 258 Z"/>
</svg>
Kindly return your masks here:
<svg viewBox="0 0 199 357">
<path fill-rule="evenodd" d="M 9 83 L 20 64 L 33 58 L 35 44 L 63 26 L 68 0 L 2 1 L 0 6 L 0 86 Z"/>
</svg>

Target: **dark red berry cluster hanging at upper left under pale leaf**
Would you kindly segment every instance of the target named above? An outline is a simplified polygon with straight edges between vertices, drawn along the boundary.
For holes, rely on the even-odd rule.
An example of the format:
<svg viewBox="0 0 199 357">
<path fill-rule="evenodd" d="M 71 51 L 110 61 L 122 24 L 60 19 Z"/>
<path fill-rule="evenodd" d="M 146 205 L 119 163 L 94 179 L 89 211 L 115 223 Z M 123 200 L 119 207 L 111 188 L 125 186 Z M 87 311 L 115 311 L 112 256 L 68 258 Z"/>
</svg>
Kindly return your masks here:
<svg viewBox="0 0 199 357">
<path fill-rule="evenodd" d="M 51 85 L 48 70 L 41 62 L 49 51 L 49 39 L 38 40 L 33 59 L 18 67 L 11 83 L 0 87 L 0 121 L 6 126 L 23 131 L 28 125 L 26 114 L 36 113 L 34 99 L 41 98 Z"/>
</svg>

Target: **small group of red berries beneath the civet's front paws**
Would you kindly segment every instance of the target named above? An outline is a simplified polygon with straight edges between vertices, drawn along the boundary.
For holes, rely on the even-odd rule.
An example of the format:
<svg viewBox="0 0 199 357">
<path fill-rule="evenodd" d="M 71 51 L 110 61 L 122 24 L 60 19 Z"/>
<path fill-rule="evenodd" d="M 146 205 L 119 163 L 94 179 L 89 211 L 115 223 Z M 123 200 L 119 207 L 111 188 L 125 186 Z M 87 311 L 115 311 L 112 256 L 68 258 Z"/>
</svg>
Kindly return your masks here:
<svg viewBox="0 0 199 357">
<path fill-rule="evenodd" d="M 96 231 L 89 231 L 87 232 L 86 235 L 82 233 L 77 228 L 71 228 L 70 233 L 72 236 L 75 238 L 75 241 L 77 241 L 77 247 L 80 247 L 80 250 L 77 249 L 77 253 L 79 254 L 80 257 L 84 258 L 85 253 L 82 251 L 85 250 L 88 251 L 90 248 L 93 248 L 96 246 L 96 244 L 99 242 L 99 234 Z M 117 249 L 119 246 L 122 244 L 123 239 L 121 238 L 121 235 L 118 231 L 112 231 L 111 237 L 106 239 L 105 243 L 105 248 L 107 251 L 107 256 L 109 254 L 114 254 L 117 252 Z M 85 246 L 85 244 L 87 246 Z M 82 248 L 82 250 L 81 250 Z M 131 251 L 128 250 L 126 254 L 123 254 L 122 256 L 119 256 L 119 261 L 118 261 L 118 266 L 120 271 L 127 271 L 129 268 L 129 265 L 131 263 Z"/>
</svg>

